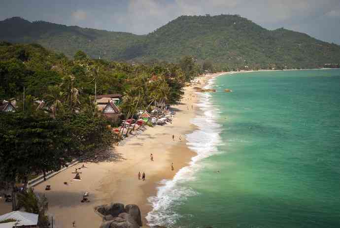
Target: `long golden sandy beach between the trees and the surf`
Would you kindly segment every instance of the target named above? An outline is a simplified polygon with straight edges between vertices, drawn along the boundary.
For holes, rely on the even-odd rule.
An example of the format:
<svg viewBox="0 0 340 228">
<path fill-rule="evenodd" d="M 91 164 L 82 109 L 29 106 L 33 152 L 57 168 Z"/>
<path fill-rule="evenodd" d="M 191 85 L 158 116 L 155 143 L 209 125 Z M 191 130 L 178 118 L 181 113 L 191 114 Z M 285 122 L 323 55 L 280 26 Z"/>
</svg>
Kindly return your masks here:
<svg viewBox="0 0 340 228">
<path fill-rule="evenodd" d="M 202 76 L 197 79 L 200 85 L 194 86 L 203 86 L 208 79 L 220 74 Z M 172 124 L 148 127 L 142 134 L 129 138 L 123 146 L 114 148 L 114 161 L 85 163 L 87 168 L 79 170 L 80 181 L 73 180 L 73 177 L 75 168 L 83 163 L 34 187 L 36 193 L 46 195 L 48 215 L 53 216 L 55 228 L 72 227 L 73 221 L 76 227 L 99 228 L 102 218 L 94 208 L 111 202 L 137 204 L 141 209 L 143 227 L 147 227 L 145 216 L 151 210 L 147 198 L 156 195 L 161 180 L 173 178 L 195 155 L 186 145 L 185 134 L 195 130 L 190 119 L 196 115 L 197 100 L 193 86 L 184 90 L 182 102 L 171 107 L 176 112 Z M 150 154 L 153 154 L 154 161 L 150 160 Z M 174 170 L 171 170 L 171 163 Z M 138 171 L 145 172 L 145 181 L 138 180 Z M 50 191 L 44 190 L 46 185 L 51 185 Z M 80 202 L 84 192 L 89 193 L 90 202 Z M 0 199 L 0 214 L 10 209 L 11 204 Z"/>
</svg>

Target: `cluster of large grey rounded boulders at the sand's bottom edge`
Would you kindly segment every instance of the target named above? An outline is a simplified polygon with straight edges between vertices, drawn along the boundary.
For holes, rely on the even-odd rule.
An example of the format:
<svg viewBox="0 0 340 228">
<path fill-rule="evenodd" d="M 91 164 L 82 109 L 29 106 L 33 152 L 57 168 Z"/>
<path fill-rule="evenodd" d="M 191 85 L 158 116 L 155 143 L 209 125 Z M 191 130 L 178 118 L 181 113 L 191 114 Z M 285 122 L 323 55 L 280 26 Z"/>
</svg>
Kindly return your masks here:
<svg viewBox="0 0 340 228">
<path fill-rule="evenodd" d="M 142 226 L 141 213 L 135 204 L 124 207 L 122 203 L 100 206 L 97 211 L 102 215 L 100 228 L 139 228 Z"/>
</svg>

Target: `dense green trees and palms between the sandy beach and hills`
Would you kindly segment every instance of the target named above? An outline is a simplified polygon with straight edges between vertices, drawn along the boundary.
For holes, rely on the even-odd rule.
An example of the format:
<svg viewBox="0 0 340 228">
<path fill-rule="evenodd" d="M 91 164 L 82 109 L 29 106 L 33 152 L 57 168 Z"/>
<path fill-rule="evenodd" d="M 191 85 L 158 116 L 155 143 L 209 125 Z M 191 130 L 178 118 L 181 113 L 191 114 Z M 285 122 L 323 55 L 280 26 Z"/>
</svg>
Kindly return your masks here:
<svg viewBox="0 0 340 228">
<path fill-rule="evenodd" d="M 95 91 L 122 94 L 122 118 L 155 102 L 176 103 L 185 82 L 200 71 L 192 57 L 179 62 L 131 65 L 91 60 L 83 51 L 69 60 L 38 44 L 0 43 L 0 101 L 16 100 L 15 112 L 0 112 L 0 183 L 12 187 L 13 209 L 16 183 L 26 189 L 30 176 L 45 177 L 73 159 L 108 149 L 117 139 L 109 125 L 119 120 L 113 123 L 102 115 Z M 34 205 L 35 212 L 29 196 L 19 195 L 19 203 Z"/>
</svg>

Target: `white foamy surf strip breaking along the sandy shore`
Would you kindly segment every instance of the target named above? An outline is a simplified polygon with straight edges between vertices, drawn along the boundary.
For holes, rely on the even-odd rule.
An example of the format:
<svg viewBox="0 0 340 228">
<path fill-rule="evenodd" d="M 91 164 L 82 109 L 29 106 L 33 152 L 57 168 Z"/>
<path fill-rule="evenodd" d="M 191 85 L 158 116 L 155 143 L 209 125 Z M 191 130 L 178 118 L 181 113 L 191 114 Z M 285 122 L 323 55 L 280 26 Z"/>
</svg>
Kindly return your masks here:
<svg viewBox="0 0 340 228">
<path fill-rule="evenodd" d="M 210 79 L 204 89 L 211 88 L 213 83 L 214 79 Z M 195 173 L 202 168 L 198 163 L 200 160 L 218 152 L 216 146 L 221 141 L 219 136 L 221 126 L 216 123 L 218 109 L 212 105 L 210 94 L 200 93 L 198 96 L 197 106 L 203 114 L 190 121 L 198 127 L 198 130 L 186 135 L 187 145 L 197 153 L 197 156 L 191 159 L 189 166 L 181 168 L 172 180 L 161 181 L 157 196 L 148 198 L 153 206 L 152 211 L 146 216 L 149 226 L 171 227 L 183 216 L 173 211 L 174 206 L 185 202 L 187 197 L 198 194 L 183 183 L 195 180 Z"/>
</svg>

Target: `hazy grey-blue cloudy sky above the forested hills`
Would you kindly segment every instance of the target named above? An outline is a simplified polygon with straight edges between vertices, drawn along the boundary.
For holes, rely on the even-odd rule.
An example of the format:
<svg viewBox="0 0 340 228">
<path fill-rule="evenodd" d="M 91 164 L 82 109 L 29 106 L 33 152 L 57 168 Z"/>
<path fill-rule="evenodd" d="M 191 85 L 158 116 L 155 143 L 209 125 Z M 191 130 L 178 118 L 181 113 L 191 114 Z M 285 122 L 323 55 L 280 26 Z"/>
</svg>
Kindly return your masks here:
<svg viewBox="0 0 340 228">
<path fill-rule="evenodd" d="M 340 44 L 340 0 L 0 0 L 0 20 L 20 16 L 83 28 L 147 34 L 181 15 L 238 14 Z"/>
</svg>

